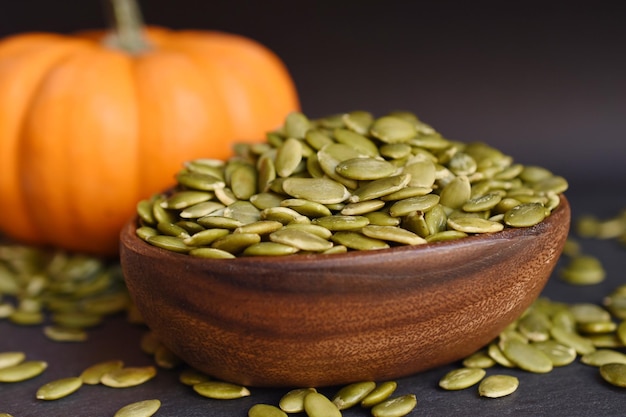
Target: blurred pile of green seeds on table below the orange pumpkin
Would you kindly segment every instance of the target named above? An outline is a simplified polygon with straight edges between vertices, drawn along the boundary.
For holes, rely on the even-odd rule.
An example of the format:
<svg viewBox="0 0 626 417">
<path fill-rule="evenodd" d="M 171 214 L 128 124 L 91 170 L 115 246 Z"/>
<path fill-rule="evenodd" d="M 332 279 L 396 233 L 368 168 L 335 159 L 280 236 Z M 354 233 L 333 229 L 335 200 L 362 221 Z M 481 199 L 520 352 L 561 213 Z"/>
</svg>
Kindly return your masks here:
<svg viewBox="0 0 626 417">
<path fill-rule="evenodd" d="M 119 262 L 0 244 L 0 319 L 43 325 L 54 341 L 80 342 L 106 316 L 131 307 Z"/>
</svg>

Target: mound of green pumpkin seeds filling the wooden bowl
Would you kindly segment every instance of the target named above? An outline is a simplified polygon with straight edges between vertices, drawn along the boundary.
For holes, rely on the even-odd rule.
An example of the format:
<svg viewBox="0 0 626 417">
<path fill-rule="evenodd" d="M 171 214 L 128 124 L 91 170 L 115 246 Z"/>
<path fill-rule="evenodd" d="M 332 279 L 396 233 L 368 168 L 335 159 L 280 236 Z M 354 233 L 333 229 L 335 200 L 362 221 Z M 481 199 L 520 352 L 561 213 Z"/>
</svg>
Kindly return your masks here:
<svg viewBox="0 0 626 417">
<path fill-rule="evenodd" d="M 533 226 L 567 181 L 408 112 L 298 112 L 226 161 L 188 161 L 138 204 L 137 235 L 208 258 L 383 249 Z"/>
</svg>

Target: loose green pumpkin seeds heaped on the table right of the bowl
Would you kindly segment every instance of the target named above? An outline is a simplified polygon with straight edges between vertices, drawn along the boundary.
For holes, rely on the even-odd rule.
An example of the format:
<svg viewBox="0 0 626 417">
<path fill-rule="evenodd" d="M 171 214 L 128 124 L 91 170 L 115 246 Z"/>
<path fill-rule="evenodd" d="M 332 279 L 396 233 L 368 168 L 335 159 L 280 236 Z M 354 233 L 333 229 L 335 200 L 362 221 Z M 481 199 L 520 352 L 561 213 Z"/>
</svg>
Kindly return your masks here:
<svg viewBox="0 0 626 417">
<path fill-rule="evenodd" d="M 444 375 L 439 386 L 459 390 L 479 384 L 480 395 L 500 397 L 511 394 L 519 385 L 516 377 L 503 374 L 502 369 L 542 374 L 578 360 L 599 368 L 608 383 L 626 387 L 624 348 L 626 285 L 612 291 L 603 305 L 539 298 L 496 340 Z M 486 376 L 494 367 L 497 371 Z"/>
</svg>

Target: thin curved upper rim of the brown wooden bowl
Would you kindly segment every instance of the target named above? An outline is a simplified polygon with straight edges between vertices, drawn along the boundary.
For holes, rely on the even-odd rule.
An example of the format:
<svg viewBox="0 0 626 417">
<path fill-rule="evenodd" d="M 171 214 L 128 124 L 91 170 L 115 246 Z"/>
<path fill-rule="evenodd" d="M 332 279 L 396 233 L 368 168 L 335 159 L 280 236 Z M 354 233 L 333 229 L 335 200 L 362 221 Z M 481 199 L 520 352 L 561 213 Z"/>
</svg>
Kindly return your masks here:
<svg viewBox="0 0 626 417">
<path fill-rule="evenodd" d="M 186 253 L 178 253 L 174 251 L 170 251 L 167 249 L 159 248 L 154 245 L 150 245 L 148 242 L 141 239 L 135 233 L 138 224 L 138 215 L 135 214 L 127 223 L 124 225 L 120 232 L 120 252 L 122 252 L 125 248 L 132 250 L 134 252 L 140 253 L 142 255 L 151 256 L 151 257 L 166 257 L 174 260 L 191 262 L 192 264 L 202 264 L 202 265 L 225 265 L 227 263 L 236 262 L 238 265 L 246 265 L 246 266 L 262 266 L 266 264 L 276 264 L 277 261 L 280 261 L 281 264 L 284 265 L 306 265 L 315 261 L 315 264 L 318 267 L 323 267 L 325 264 L 337 264 L 342 261 L 350 261 L 355 262 L 358 260 L 367 260 L 372 261 L 377 259 L 378 257 L 404 257 L 407 254 L 411 254 L 412 256 L 418 256 L 421 254 L 429 254 L 431 252 L 436 251 L 437 253 L 445 253 L 451 250 L 456 250 L 458 248 L 466 247 L 466 246 L 476 246 L 477 244 L 495 244 L 496 242 L 506 240 L 510 241 L 517 238 L 532 238 L 533 236 L 537 236 L 545 233 L 549 228 L 554 227 L 559 222 L 564 221 L 567 222 L 567 227 L 569 228 L 570 222 L 570 205 L 564 194 L 559 195 L 560 203 L 559 205 L 540 223 L 529 226 L 529 227 L 506 227 L 499 231 L 493 233 L 481 233 L 475 235 L 469 235 L 466 237 L 462 237 L 459 239 L 453 239 L 448 241 L 439 241 L 439 242 L 429 242 L 426 244 L 420 245 L 398 245 L 385 249 L 377 249 L 370 251 L 348 251 L 344 253 L 336 253 L 336 254 L 315 254 L 315 253 L 307 253 L 307 254 L 292 254 L 292 255 L 280 255 L 280 256 L 246 256 L 246 257 L 236 257 L 229 259 L 211 259 L 211 258 L 201 258 L 191 256 Z"/>
</svg>

